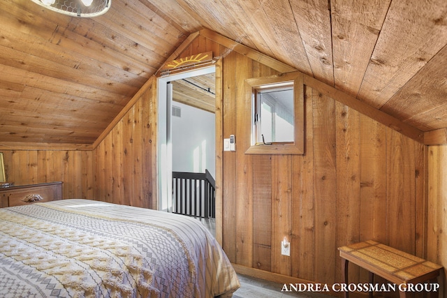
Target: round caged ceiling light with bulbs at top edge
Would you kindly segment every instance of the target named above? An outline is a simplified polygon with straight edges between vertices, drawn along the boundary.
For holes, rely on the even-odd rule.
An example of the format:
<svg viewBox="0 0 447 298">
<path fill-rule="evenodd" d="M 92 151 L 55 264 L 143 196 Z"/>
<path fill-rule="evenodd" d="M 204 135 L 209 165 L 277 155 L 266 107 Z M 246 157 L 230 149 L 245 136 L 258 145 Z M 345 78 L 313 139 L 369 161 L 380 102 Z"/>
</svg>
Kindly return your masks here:
<svg viewBox="0 0 447 298">
<path fill-rule="evenodd" d="M 96 17 L 110 8 L 112 0 L 31 0 L 47 9 L 71 17 Z"/>
</svg>

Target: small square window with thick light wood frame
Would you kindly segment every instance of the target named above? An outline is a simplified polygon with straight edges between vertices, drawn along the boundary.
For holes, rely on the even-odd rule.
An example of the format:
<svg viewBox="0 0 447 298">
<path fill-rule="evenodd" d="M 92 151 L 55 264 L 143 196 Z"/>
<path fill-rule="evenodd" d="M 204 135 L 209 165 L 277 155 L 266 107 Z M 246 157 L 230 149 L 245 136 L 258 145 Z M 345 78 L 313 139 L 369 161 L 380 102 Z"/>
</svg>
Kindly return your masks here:
<svg viewBox="0 0 447 298">
<path fill-rule="evenodd" d="M 251 146 L 247 154 L 304 154 L 301 73 L 246 80 L 251 96 Z"/>
</svg>

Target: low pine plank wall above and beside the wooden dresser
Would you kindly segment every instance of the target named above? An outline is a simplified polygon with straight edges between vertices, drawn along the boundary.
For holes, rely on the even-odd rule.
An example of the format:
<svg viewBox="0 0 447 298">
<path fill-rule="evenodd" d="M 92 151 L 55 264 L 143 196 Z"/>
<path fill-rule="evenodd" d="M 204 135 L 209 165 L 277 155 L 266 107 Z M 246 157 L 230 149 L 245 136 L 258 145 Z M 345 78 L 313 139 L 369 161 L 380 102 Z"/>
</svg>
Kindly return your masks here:
<svg viewBox="0 0 447 298">
<path fill-rule="evenodd" d="M 63 181 L 64 199 L 94 198 L 91 150 L 2 149 L 7 181 L 15 185 Z"/>
</svg>

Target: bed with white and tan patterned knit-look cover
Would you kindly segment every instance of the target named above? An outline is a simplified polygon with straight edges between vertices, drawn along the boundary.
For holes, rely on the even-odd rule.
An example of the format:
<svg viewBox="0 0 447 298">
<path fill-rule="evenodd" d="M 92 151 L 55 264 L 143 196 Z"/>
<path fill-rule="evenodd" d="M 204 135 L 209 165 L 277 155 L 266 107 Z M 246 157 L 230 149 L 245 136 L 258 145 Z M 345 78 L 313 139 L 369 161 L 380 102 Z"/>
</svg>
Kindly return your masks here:
<svg viewBox="0 0 447 298">
<path fill-rule="evenodd" d="M 78 199 L 0 209 L 0 297 L 230 297 L 239 287 L 194 218 Z"/>
</svg>

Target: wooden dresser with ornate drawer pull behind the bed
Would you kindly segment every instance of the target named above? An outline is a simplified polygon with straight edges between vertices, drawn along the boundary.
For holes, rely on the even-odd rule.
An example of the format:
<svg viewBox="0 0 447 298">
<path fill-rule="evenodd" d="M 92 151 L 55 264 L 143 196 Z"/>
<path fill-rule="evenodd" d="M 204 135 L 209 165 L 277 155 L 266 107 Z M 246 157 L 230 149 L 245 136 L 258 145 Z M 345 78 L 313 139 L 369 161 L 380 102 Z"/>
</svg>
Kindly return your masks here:
<svg viewBox="0 0 447 298">
<path fill-rule="evenodd" d="M 0 188 L 0 207 L 62 199 L 62 182 L 9 186 Z"/>
</svg>

